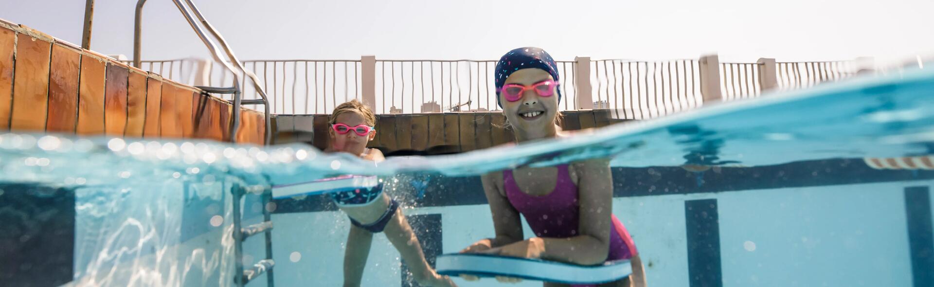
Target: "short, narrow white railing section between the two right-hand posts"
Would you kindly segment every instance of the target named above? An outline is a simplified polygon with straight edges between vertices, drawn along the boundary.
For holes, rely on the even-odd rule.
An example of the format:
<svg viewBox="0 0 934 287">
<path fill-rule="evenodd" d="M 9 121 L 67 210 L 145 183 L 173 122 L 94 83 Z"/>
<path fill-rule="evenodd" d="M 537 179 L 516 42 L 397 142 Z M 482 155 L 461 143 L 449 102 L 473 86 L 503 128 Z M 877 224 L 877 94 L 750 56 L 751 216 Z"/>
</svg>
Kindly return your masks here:
<svg viewBox="0 0 934 287">
<path fill-rule="evenodd" d="M 720 93 L 725 101 L 756 97 L 762 93 L 758 63 L 720 63 Z"/>
</svg>

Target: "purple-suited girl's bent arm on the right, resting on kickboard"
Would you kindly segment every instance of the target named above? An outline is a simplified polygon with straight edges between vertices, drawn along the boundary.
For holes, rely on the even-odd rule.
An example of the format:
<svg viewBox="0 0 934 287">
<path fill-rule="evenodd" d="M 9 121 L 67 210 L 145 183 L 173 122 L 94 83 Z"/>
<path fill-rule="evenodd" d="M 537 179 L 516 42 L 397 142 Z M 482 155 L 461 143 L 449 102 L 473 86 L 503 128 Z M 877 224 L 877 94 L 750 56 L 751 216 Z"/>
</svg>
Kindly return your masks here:
<svg viewBox="0 0 934 287">
<path fill-rule="evenodd" d="M 606 261 L 610 250 L 613 214 L 613 177 L 606 159 L 574 164 L 578 176 L 580 235 L 567 238 L 531 237 L 528 240 L 491 250 L 505 256 L 543 258 L 578 265 Z"/>
</svg>

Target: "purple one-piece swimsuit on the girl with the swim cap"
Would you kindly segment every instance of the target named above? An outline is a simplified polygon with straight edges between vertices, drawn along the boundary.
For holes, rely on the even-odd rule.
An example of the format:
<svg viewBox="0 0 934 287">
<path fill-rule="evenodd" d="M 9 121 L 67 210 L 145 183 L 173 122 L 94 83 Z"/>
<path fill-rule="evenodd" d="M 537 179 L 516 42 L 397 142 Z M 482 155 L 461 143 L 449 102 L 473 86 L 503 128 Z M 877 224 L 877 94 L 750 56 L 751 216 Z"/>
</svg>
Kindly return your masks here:
<svg viewBox="0 0 934 287">
<path fill-rule="evenodd" d="M 555 190 L 541 196 L 522 193 L 512 170 L 502 172 L 503 187 L 509 203 L 513 205 L 526 222 L 529 222 L 536 237 L 574 237 L 580 218 L 580 204 L 577 200 L 577 186 L 571 179 L 568 165 L 558 165 L 558 182 Z M 622 222 L 612 215 L 613 224 L 610 233 L 610 251 L 607 261 L 630 259 L 638 254 L 632 238 Z M 573 285 L 595 286 L 595 285 Z"/>
</svg>

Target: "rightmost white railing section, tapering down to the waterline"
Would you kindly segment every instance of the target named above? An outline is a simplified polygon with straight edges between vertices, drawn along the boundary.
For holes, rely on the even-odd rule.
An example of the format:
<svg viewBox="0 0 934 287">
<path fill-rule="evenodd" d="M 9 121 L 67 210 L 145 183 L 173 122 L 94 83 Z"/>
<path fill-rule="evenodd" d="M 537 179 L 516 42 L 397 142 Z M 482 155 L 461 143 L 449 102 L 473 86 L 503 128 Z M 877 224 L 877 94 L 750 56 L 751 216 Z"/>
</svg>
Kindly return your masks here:
<svg viewBox="0 0 934 287">
<path fill-rule="evenodd" d="M 853 61 L 775 63 L 780 90 L 812 87 L 820 82 L 853 77 L 858 65 Z"/>
</svg>

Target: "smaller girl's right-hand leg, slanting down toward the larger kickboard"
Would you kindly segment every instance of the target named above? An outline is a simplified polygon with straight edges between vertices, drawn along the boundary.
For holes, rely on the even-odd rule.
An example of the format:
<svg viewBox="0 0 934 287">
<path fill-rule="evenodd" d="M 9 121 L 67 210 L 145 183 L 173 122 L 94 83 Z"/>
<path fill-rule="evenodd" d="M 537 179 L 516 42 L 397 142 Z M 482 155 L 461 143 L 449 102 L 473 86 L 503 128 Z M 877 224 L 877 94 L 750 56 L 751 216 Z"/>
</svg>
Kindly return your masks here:
<svg viewBox="0 0 934 287">
<path fill-rule="evenodd" d="M 402 208 L 396 210 L 392 220 L 383 230 L 392 246 L 402 255 L 405 264 L 409 266 L 412 275 L 415 276 L 418 284 L 427 286 L 455 286 L 454 282 L 446 276 L 438 275 L 428 261 L 425 260 L 425 253 L 421 250 L 421 244 L 418 237 L 412 231 L 412 226 L 405 220 Z"/>
</svg>

